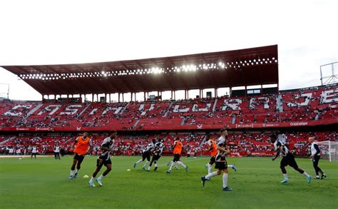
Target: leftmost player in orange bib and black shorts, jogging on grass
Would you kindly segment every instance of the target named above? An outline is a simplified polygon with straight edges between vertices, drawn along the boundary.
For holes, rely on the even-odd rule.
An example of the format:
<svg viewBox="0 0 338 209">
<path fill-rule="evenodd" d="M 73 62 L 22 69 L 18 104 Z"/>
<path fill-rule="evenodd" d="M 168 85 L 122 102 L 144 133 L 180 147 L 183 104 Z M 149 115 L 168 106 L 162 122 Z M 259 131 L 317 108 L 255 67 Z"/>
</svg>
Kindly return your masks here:
<svg viewBox="0 0 338 209">
<path fill-rule="evenodd" d="M 83 133 L 83 136 L 78 136 L 78 138 L 76 138 L 74 141 L 75 149 L 73 152 L 75 153 L 75 156 L 73 158 L 73 165 L 71 165 L 71 175 L 69 176 L 69 179 L 76 178 L 78 175 L 78 170 L 81 168 L 81 163 L 84 156 L 86 156 L 87 153 L 91 153 L 93 143 L 91 142 L 91 138 L 89 138 L 88 135 L 89 134 L 85 132 Z"/>
</svg>

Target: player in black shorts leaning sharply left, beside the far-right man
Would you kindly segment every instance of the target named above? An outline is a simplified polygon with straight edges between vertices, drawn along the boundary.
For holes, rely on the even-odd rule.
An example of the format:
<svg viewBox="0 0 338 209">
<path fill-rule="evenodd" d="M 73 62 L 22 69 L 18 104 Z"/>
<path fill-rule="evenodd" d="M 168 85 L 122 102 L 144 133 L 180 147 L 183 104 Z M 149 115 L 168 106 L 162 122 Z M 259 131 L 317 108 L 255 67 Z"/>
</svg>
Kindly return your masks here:
<svg viewBox="0 0 338 209">
<path fill-rule="evenodd" d="M 275 146 L 275 151 L 276 151 L 276 156 L 275 158 L 272 158 L 272 160 L 276 160 L 276 158 L 280 155 L 282 156 L 282 160 L 280 160 L 280 170 L 282 170 L 284 179 L 280 183 L 287 183 L 289 181 L 289 178 L 287 176 L 287 170 L 285 169 L 287 165 L 290 165 L 292 168 L 294 168 L 299 173 L 304 175 L 307 178 L 307 183 L 311 183 L 311 179 L 312 179 L 311 176 L 307 174 L 304 170 L 302 170 L 302 168 L 298 167 L 296 160 L 295 160 L 295 156 L 293 156 L 292 153 L 290 153 L 287 146 L 285 146 L 284 143 L 278 141 L 277 136 L 275 134 L 270 136 L 270 138 L 271 138 L 271 142 Z"/>
</svg>

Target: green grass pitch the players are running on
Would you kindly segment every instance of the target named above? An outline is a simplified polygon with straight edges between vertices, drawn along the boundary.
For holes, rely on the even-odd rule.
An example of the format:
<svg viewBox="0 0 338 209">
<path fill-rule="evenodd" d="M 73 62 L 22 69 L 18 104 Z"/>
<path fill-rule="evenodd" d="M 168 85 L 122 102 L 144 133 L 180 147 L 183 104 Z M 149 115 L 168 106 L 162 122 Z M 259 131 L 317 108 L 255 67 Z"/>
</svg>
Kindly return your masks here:
<svg viewBox="0 0 338 209">
<path fill-rule="evenodd" d="M 96 156 L 83 160 L 73 180 L 68 180 L 71 156 L 0 158 L 0 208 L 338 208 L 337 162 L 319 161 L 328 177 L 312 183 L 287 167 L 290 182 L 282 185 L 280 158 L 227 158 L 238 170 L 229 170 L 228 184 L 234 190 L 225 192 L 221 176 L 202 187 L 207 157 L 184 157 L 188 173 L 180 168 L 171 174 L 165 173 L 171 157 L 160 158 L 156 172 L 153 168 L 145 172 L 143 164 L 134 169 L 138 159 L 113 157 L 113 169 L 103 178 L 103 186 L 91 188 L 83 175 L 91 176 Z M 297 159 L 297 163 L 314 175 L 311 160 Z"/>
</svg>

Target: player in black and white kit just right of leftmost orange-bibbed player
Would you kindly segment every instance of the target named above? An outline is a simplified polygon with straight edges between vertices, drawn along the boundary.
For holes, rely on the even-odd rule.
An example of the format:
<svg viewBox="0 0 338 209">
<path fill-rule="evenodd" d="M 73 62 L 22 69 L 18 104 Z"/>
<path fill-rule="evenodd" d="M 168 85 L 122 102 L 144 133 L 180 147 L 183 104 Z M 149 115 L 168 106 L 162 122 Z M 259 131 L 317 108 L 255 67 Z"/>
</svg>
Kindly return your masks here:
<svg viewBox="0 0 338 209">
<path fill-rule="evenodd" d="M 102 165 L 105 165 L 107 169 L 98 178 L 96 178 L 98 185 L 102 185 L 102 178 L 105 177 L 109 172 L 111 172 L 111 151 L 114 146 L 116 136 L 116 131 L 111 131 L 109 133 L 109 137 L 103 140 L 101 144 L 102 153 L 100 156 L 98 156 L 98 159 L 96 160 L 96 170 L 91 176 L 91 180 L 89 180 L 90 186 L 95 186 L 94 178 L 96 178 L 96 175 L 101 170 Z"/>
</svg>

